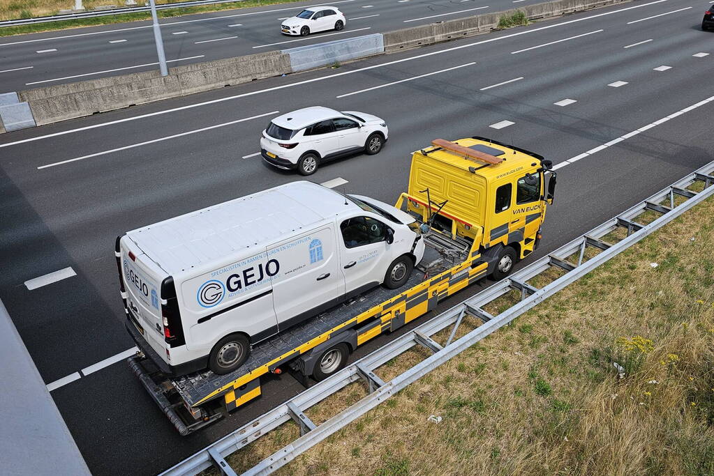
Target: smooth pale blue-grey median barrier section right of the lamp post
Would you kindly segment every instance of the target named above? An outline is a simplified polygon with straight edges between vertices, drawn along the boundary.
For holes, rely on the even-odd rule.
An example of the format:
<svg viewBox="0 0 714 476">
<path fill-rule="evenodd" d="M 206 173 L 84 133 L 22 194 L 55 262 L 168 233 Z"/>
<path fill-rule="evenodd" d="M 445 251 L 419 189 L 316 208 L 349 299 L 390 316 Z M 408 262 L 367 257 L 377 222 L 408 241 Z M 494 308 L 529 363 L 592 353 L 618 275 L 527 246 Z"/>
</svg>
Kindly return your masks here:
<svg viewBox="0 0 714 476">
<path fill-rule="evenodd" d="M 316 45 L 299 46 L 283 50 L 283 53 L 290 57 L 293 71 L 305 71 L 336 61 L 348 61 L 384 53 L 384 39 L 382 33 L 374 33 Z"/>
</svg>

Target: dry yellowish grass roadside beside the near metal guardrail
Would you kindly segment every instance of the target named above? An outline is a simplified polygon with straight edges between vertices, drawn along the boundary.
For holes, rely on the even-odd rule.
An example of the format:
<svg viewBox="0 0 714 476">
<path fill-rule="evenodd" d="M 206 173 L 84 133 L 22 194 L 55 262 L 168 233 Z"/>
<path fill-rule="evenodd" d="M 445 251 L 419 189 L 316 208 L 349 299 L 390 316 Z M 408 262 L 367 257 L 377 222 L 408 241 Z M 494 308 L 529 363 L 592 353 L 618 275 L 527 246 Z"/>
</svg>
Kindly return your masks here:
<svg viewBox="0 0 714 476">
<path fill-rule="evenodd" d="M 708 200 L 278 474 L 714 474 L 713 248 Z M 635 336 L 651 343 L 628 347 Z M 376 373 L 391 378 L 420 352 Z M 346 408 L 359 385 L 311 418 Z M 285 432 L 231 463 L 246 469 L 285 445 Z"/>
</svg>

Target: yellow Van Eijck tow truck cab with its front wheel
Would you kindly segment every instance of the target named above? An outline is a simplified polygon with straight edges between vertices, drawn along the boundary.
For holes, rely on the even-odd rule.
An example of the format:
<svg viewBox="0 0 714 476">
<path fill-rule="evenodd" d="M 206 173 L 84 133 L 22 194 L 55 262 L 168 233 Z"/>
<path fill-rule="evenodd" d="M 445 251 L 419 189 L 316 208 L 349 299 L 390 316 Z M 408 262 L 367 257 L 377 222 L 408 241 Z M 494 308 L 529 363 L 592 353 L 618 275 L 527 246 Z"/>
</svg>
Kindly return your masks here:
<svg viewBox="0 0 714 476">
<path fill-rule="evenodd" d="M 480 137 L 432 145 L 413 152 L 407 212 L 453 239 L 473 242 L 472 257 L 480 253 L 489 274 L 508 274 L 515 260 L 538 246 L 545 207 L 555 193 L 550 160 Z M 506 256 L 510 264 L 508 258 L 501 263 Z M 499 273 L 496 265 L 506 268 Z"/>
</svg>

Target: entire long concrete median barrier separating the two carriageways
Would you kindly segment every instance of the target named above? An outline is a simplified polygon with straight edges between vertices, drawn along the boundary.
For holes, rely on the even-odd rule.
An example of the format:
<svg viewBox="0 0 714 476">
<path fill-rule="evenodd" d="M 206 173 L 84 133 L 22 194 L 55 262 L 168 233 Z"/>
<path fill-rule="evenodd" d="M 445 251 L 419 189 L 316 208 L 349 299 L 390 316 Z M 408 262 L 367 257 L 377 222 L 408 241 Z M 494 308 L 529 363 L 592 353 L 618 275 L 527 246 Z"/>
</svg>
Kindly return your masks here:
<svg viewBox="0 0 714 476">
<path fill-rule="evenodd" d="M 415 26 L 388 33 L 346 38 L 329 43 L 290 48 L 285 51 L 270 51 L 238 58 L 176 66 L 169 70 L 169 76 L 164 77 L 159 74 L 159 71 L 146 71 L 24 90 L 19 93 L 19 99 L 29 105 L 29 109 L 34 115 L 34 123 L 44 125 L 155 100 L 246 83 L 253 79 L 304 71 L 326 66 L 335 61 L 347 61 L 380 53 L 393 53 L 441 41 L 488 33 L 488 31 L 498 28 L 498 21 L 501 17 L 510 16 L 516 11 L 523 11 L 528 19 L 535 20 L 625 1 L 630 0 L 546 1 L 522 6 L 518 9 L 440 21 L 435 24 Z M 4 129 L 10 130 L 8 121 L 0 114 L 0 133 L 4 132 Z"/>
</svg>

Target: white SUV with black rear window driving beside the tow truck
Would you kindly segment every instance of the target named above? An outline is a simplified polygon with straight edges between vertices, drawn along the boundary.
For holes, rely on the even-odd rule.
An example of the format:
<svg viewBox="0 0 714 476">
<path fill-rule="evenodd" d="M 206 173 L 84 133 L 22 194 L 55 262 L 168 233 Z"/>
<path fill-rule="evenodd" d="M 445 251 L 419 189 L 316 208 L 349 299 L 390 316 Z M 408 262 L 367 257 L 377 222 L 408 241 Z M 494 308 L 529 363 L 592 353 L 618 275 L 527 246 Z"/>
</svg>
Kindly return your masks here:
<svg viewBox="0 0 714 476">
<path fill-rule="evenodd" d="M 376 115 L 314 106 L 271 120 L 263 130 L 261 155 L 278 168 L 311 175 L 328 160 L 362 151 L 376 154 L 387 138 L 387 125 Z"/>
</svg>

